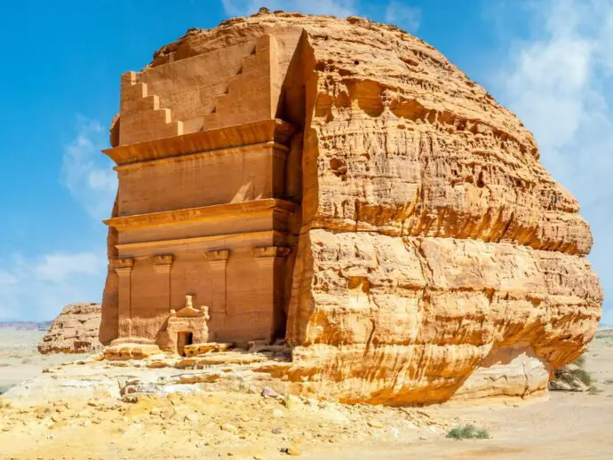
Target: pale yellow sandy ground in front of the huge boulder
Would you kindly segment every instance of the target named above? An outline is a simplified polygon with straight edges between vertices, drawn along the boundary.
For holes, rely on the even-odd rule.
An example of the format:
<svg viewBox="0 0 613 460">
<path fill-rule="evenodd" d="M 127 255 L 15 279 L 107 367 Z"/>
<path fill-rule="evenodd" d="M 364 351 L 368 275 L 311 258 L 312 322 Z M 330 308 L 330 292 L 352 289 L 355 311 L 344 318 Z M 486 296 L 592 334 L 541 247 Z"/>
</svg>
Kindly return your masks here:
<svg viewBox="0 0 613 460">
<path fill-rule="evenodd" d="M 52 386 L 58 378 L 44 374 L 48 380 L 20 385 L 3 400 L 0 458 L 613 458 L 613 333 L 593 341 L 585 368 L 596 379 L 592 393 L 423 409 L 227 391 L 147 396 L 136 403 L 119 401 L 111 390 L 71 397 L 79 381 L 60 384 L 66 391 L 49 393 L 48 401 L 27 400 L 28 391 L 40 393 L 36 385 Z M 105 369 L 108 381 L 171 372 Z M 463 424 L 486 429 L 490 439 L 446 438 Z"/>
</svg>

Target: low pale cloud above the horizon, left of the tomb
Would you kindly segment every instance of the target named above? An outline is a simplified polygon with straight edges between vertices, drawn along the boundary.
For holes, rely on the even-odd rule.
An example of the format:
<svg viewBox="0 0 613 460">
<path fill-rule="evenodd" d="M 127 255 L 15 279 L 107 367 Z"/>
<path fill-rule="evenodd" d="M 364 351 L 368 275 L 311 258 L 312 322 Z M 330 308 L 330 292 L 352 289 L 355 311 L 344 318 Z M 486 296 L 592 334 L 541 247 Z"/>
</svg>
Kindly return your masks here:
<svg viewBox="0 0 613 460">
<path fill-rule="evenodd" d="M 107 265 L 103 250 L 33 259 L 15 254 L 1 264 L 0 321 L 51 320 L 64 305 L 102 297 Z"/>
</svg>

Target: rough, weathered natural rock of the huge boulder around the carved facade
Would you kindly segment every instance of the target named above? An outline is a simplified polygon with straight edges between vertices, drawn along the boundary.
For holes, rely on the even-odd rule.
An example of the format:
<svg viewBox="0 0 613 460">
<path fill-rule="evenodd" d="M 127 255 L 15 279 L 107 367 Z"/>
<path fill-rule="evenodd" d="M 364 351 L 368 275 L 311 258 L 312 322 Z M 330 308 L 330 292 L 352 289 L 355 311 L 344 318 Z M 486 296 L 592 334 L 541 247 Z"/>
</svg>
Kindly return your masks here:
<svg viewBox="0 0 613 460">
<path fill-rule="evenodd" d="M 232 102 L 233 77 L 199 83 L 195 94 L 212 110 L 200 116 L 187 92 L 169 92 L 167 75 L 197 74 L 198 59 L 218 65 L 225 50 L 264 36 L 276 50 L 267 97 L 294 128 L 283 198 L 300 204 L 300 219 L 299 231 L 286 227 L 281 294 L 292 359 L 259 370 L 292 393 L 346 402 L 544 392 L 600 320 L 589 226 L 539 162 L 531 133 L 432 46 L 370 20 L 266 10 L 193 29 L 139 74 L 153 87 L 159 79 L 163 107 L 185 123 L 167 117 L 159 131 L 135 129 L 121 115 L 112 139 L 181 139 L 246 123 L 241 107 L 251 99 Z M 215 91 L 225 101 L 217 107 L 206 99 Z M 132 257 L 116 242 L 112 227 L 112 263 L 117 248 Z M 107 342 L 117 337 L 120 281 L 111 264 Z"/>
</svg>

